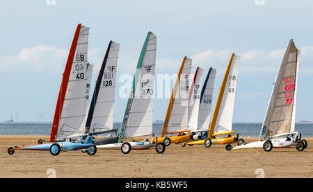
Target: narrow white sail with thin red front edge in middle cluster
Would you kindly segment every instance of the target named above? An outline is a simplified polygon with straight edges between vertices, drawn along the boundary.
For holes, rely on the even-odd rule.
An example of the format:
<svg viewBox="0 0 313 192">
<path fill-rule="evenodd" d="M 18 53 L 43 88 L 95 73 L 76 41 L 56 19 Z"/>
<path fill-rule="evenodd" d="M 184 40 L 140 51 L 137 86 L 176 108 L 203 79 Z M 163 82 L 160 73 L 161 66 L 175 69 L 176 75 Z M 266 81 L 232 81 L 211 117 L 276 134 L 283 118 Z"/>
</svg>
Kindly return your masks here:
<svg viewBox="0 0 313 192">
<path fill-rule="evenodd" d="M 189 104 L 188 104 L 188 130 L 197 130 L 198 128 L 198 115 L 200 106 L 200 97 L 202 89 L 202 75 L 203 69 L 198 67 L 195 71 L 195 76 L 189 91 Z"/>
</svg>

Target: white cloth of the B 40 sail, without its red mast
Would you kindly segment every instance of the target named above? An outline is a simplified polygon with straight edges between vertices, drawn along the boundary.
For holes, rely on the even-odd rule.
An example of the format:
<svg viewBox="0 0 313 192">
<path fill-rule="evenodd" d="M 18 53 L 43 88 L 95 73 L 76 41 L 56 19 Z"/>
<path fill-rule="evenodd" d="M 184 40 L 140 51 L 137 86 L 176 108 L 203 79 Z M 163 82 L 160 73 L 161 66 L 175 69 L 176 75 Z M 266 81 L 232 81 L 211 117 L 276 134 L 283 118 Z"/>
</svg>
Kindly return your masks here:
<svg viewBox="0 0 313 192">
<path fill-rule="evenodd" d="M 89 28 L 81 26 L 58 125 L 57 139 L 70 137 L 83 131 L 81 128 L 83 128 L 88 108 L 86 100 L 89 99 L 89 94 L 86 92 L 88 90 L 86 87 L 88 82 L 88 35 Z"/>
</svg>

